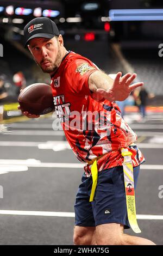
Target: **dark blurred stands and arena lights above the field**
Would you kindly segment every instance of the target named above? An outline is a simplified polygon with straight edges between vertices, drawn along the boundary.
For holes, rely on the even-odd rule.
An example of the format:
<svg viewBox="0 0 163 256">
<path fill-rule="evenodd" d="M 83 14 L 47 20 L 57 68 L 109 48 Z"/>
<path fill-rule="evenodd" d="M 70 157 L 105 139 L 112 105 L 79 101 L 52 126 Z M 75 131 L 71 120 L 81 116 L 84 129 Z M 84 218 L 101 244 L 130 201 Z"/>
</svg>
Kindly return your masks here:
<svg viewBox="0 0 163 256">
<path fill-rule="evenodd" d="M 3 75 L 9 94 L 4 102 L 17 100 L 20 84 L 13 80 L 17 72 L 23 73 L 26 86 L 49 83 L 48 75 L 41 72 L 23 47 L 26 23 L 34 17 L 47 16 L 57 23 L 68 50 L 90 58 L 108 74 L 120 70 L 136 72 L 137 80 L 145 82 L 147 91 L 155 95 L 150 105 L 161 106 L 163 71 L 158 54 L 163 36 L 161 4 L 156 0 L 0 1 L 3 45 L 0 78 Z"/>
</svg>

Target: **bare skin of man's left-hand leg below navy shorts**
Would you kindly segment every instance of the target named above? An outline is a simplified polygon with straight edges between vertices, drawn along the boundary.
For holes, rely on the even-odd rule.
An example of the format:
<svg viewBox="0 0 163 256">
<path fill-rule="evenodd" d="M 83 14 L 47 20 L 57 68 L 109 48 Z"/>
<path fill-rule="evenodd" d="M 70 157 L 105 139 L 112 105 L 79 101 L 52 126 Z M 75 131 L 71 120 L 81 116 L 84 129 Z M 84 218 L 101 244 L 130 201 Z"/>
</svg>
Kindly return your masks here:
<svg viewBox="0 0 163 256">
<path fill-rule="evenodd" d="M 74 245 L 96 245 L 95 227 L 74 227 Z"/>
</svg>

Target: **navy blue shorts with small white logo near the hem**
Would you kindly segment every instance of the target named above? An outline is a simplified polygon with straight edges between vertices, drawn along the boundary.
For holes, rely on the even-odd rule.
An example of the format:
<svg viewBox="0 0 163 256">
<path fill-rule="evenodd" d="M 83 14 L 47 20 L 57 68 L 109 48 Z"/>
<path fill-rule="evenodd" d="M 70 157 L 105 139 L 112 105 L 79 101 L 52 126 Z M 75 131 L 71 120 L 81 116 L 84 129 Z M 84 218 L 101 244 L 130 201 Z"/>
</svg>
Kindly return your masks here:
<svg viewBox="0 0 163 256">
<path fill-rule="evenodd" d="M 134 167 L 134 186 L 136 187 L 140 166 Z M 76 196 L 75 225 L 95 227 L 106 223 L 120 223 L 130 228 L 127 217 L 126 193 L 123 178 L 123 166 L 102 170 L 98 173 L 98 182 L 93 202 L 89 202 L 92 188 L 92 176 L 82 176 L 82 184 Z"/>
</svg>

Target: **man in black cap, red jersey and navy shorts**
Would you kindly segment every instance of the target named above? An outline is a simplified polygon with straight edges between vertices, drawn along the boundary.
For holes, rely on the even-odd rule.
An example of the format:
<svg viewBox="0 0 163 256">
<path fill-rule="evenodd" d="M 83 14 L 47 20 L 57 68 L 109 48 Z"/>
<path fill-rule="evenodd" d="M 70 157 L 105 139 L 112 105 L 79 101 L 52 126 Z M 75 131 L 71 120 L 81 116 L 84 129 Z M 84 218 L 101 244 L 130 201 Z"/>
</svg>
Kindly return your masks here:
<svg viewBox="0 0 163 256">
<path fill-rule="evenodd" d="M 136 74 L 121 77 L 121 72 L 112 80 L 89 59 L 67 51 L 57 26 L 46 17 L 30 21 L 24 27 L 24 36 L 37 65 L 51 75 L 55 110 L 67 141 L 78 159 L 87 163 L 74 206 L 74 244 L 154 245 L 147 239 L 123 234 L 123 229 L 129 228 L 129 223 L 120 149 L 128 148 L 133 154 L 135 185 L 140 163 L 144 159 L 136 145 L 131 145 L 137 137 L 124 122 L 114 102 L 126 99 L 133 89 L 143 83 L 131 85 Z M 84 121 L 86 127 L 74 128 L 70 124 L 74 111 L 80 113 L 77 114 L 77 123 L 82 124 Z M 85 116 L 87 111 L 103 114 L 100 117 L 96 115 L 89 122 Z M 29 118 L 39 117 L 23 113 Z M 102 124 L 98 126 L 97 123 Z M 90 124 L 92 129 L 87 128 Z M 91 165 L 95 159 L 99 173 L 98 184 L 94 200 L 89 202 Z"/>
</svg>

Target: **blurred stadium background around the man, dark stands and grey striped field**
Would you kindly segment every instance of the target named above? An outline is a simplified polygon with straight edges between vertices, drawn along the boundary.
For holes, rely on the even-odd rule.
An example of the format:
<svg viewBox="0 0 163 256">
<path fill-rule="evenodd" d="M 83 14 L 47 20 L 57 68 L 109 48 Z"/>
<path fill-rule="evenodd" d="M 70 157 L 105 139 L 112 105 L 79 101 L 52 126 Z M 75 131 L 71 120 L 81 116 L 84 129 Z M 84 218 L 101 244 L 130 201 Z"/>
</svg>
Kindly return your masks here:
<svg viewBox="0 0 163 256">
<path fill-rule="evenodd" d="M 133 129 L 137 128 L 139 143 L 142 141 L 145 142 L 142 147 L 145 148 L 143 151 L 145 151 L 145 156 L 147 157 L 147 160 L 149 160 L 148 164 L 157 164 L 157 166 L 160 166 L 161 168 L 162 144 L 159 144 L 160 148 L 155 149 L 155 155 L 159 159 L 154 160 L 152 151 L 154 146 L 151 144 L 151 146 L 149 145 L 148 148 L 146 143 L 149 142 L 149 139 L 153 139 L 153 136 L 154 138 L 157 138 L 158 141 L 151 141 L 151 143 L 163 142 L 163 138 L 160 137 L 163 130 L 163 69 L 161 58 L 161 48 L 163 47 L 163 45 L 161 45 L 163 44 L 162 1 L 0 0 L 0 114 L 1 106 L 3 106 L 4 109 L 3 120 L 1 117 L 0 121 L 1 123 L 5 124 L 6 132 L 9 132 L 5 133 L 4 129 L 2 130 L 3 134 L 0 135 L 0 174 L 8 172 L 9 167 L 5 164 L 10 163 L 10 168 L 13 170 L 15 162 L 10 162 L 8 161 L 9 159 L 15 159 L 15 161 L 19 159 L 17 160 L 17 164 L 20 164 L 20 159 L 24 161 L 27 159 L 37 159 L 44 162 L 52 162 L 52 160 L 62 162 L 62 159 L 64 159 L 66 162 L 71 163 L 77 161 L 71 155 L 73 153 L 70 153 L 70 151 L 68 151 L 66 156 L 65 151 L 61 151 L 60 154 L 57 153 L 57 156 L 50 154 L 51 159 L 49 160 L 48 157 L 45 157 L 47 151 L 43 151 L 43 153 L 41 151 L 40 153 L 40 149 L 37 148 L 37 150 L 35 150 L 34 147 L 37 147 L 37 144 L 39 145 L 39 143 L 42 142 L 45 143 L 43 148 L 44 150 L 53 149 L 54 151 L 58 151 L 54 147 L 55 143 L 51 143 L 52 145 L 49 146 L 49 148 L 48 146 L 46 148 L 45 145 L 47 141 L 52 141 L 52 139 L 54 139 L 55 141 L 58 140 L 64 142 L 65 140 L 60 131 L 60 133 L 58 132 L 55 134 L 52 131 L 52 115 L 47 115 L 45 118 L 46 120 L 41 119 L 40 121 L 27 121 L 27 118 L 22 117 L 20 111 L 17 110 L 17 95 L 21 87 L 24 88 L 25 86 L 29 86 L 30 84 L 36 82 L 50 83 L 48 75 L 42 73 L 42 71 L 36 66 L 32 56 L 29 54 L 29 51 L 23 47 L 23 27 L 30 20 L 34 19 L 34 17 L 40 16 L 49 17 L 55 21 L 55 23 L 57 23 L 60 34 L 62 34 L 64 37 L 67 50 L 72 50 L 87 58 L 90 58 L 107 74 L 116 74 L 118 71 L 122 71 L 123 74 L 126 72 L 136 72 L 137 81 L 143 81 L 145 83 L 145 89 L 147 90 L 149 97 L 147 102 L 148 118 L 147 120 L 143 120 L 144 126 L 136 126 L 137 123 L 141 123 L 142 120 L 140 114 L 138 113 L 139 108 L 136 106 L 135 102 L 135 95 L 138 95 L 139 92 L 135 92 L 134 96 L 129 96 L 129 99 L 127 99 L 125 102 L 126 118 L 129 123 L 133 123 Z M 55 117 L 55 115 L 53 116 Z M 48 134 L 46 134 L 46 132 Z M 148 132 L 151 134 L 151 137 Z M 54 137 L 51 135 L 54 135 Z M 36 144 L 34 145 L 32 142 Z M 26 148 L 23 143 L 27 144 L 28 147 Z M 65 147 L 64 143 L 61 144 L 62 146 L 59 146 L 61 147 L 61 150 L 62 147 Z M 30 147 L 32 147 L 31 151 L 29 151 Z M 8 163 L 5 162 L 5 160 L 8 161 Z M 21 164 L 23 163 L 21 162 Z M 34 169 L 34 166 L 31 167 L 32 164 L 26 163 L 25 165 L 32 170 Z M 45 178 L 46 175 L 44 176 L 43 170 L 44 169 L 42 168 L 40 173 Z M 71 172 L 74 172 L 74 170 L 76 169 L 72 169 Z M 13 170 L 13 172 L 15 171 L 16 170 Z M 63 210 L 72 212 L 72 198 L 74 198 L 74 193 L 77 190 L 81 173 L 75 174 L 76 176 L 74 176 L 74 180 L 78 182 L 76 182 L 76 186 L 72 187 L 73 190 L 70 191 L 70 194 L 72 195 L 71 199 L 69 198 L 70 195 L 67 196 L 70 199 L 69 201 L 68 198 L 66 200 L 66 198 L 62 197 L 62 191 L 59 189 L 58 184 L 51 184 L 54 187 L 57 186 L 59 191 L 56 191 L 59 193 L 59 197 L 61 198 L 60 200 L 63 200 L 62 204 L 65 205 L 64 209 L 61 209 L 63 205 L 60 205 L 58 202 L 58 197 L 55 196 L 53 198 L 53 193 L 56 192 L 55 189 L 52 191 L 49 190 L 49 194 L 46 194 L 46 188 L 44 192 L 41 192 L 43 185 L 48 187 L 48 182 L 51 179 L 55 180 L 56 177 L 53 176 L 54 174 L 51 177 L 50 171 L 48 171 L 47 176 L 49 175 L 49 181 L 46 177 L 46 184 L 38 185 L 36 182 L 36 185 L 34 185 L 34 180 L 36 181 L 41 179 L 39 172 L 34 173 L 36 173 L 36 176 L 35 174 L 32 174 L 32 172 L 28 174 L 32 175 L 29 180 L 27 174 L 24 174 L 27 176 L 26 179 L 28 182 L 25 181 L 23 175 L 21 176 L 21 174 L 18 173 L 14 173 L 13 177 L 8 176 L 8 178 L 5 176 L 7 174 L 1 175 L 2 179 L 0 184 L 4 188 L 4 198 L 1 199 L 1 209 L 40 211 L 44 208 L 44 211 Z M 61 169 L 61 172 L 58 172 L 58 175 L 61 175 L 61 177 L 64 179 L 64 184 L 66 184 L 64 178 L 64 167 Z M 161 180 L 160 173 L 159 177 L 160 178 L 158 178 L 158 182 L 156 182 L 155 185 L 156 199 L 154 196 L 152 196 L 152 194 L 150 196 L 154 205 L 156 200 L 160 200 L 158 199 L 157 195 L 158 186 L 161 185 L 159 184 L 159 180 Z M 16 182 L 16 186 L 13 184 L 12 179 L 14 179 L 14 182 Z M 24 184 L 24 187 L 20 186 L 20 183 L 18 182 L 19 179 L 22 184 Z M 32 185 L 29 185 L 30 179 L 34 179 L 33 186 L 35 188 L 33 188 Z M 70 177 L 66 176 L 66 179 L 68 180 Z M 147 179 L 147 175 L 142 176 L 141 181 L 144 179 Z M 140 187 L 142 186 L 141 192 L 143 193 L 143 182 L 141 183 L 141 181 Z M 152 181 L 153 176 L 151 176 L 149 183 Z M 55 182 L 56 181 L 54 181 L 54 183 Z M 37 185 L 40 187 L 37 187 Z M 148 185 L 148 183 L 146 185 Z M 8 188 L 5 188 L 5 186 Z M 31 186 L 30 191 L 27 189 L 28 186 Z M 65 186 L 67 187 L 68 185 Z M 40 193 L 43 193 L 42 198 L 39 196 L 38 190 Z M 32 191 L 34 194 L 32 194 Z M 6 197 L 5 193 L 7 194 Z M 15 197 L 12 193 L 16 193 Z M 20 193 L 24 193 L 22 198 L 20 197 Z M 146 193 L 147 194 L 143 195 L 144 197 L 148 195 L 148 191 L 146 191 Z M 18 199 L 16 198 L 17 196 Z M 10 199 L 8 199 L 9 197 Z M 39 197 L 40 205 L 37 201 L 37 197 Z M 13 200 L 11 200 L 11 198 Z M 47 198 L 49 201 L 48 203 L 45 203 L 45 201 L 47 202 Z M 68 202 L 70 202 L 71 207 Z M 160 204 L 160 201 L 158 201 L 158 203 Z M 52 206 L 53 204 L 54 207 Z M 154 211 L 149 207 L 150 204 L 151 202 L 149 199 L 146 199 L 145 206 L 141 203 L 141 201 L 138 202 L 138 213 L 141 212 L 141 210 L 143 212 L 144 207 L 146 207 L 146 214 L 148 214 L 148 211 L 150 214 L 151 212 L 152 214 L 156 215 L 162 214 L 161 206 L 158 207 L 158 211 L 156 210 L 158 209 L 157 206 L 155 206 Z M 16 220 L 16 218 L 13 218 L 13 222 L 10 222 L 11 219 L 8 220 L 8 215 L 7 217 L 3 217 L 4 216 L 2 213 L 2 216 L 0 217 L 0 219 L 2 218 L 3 222 L 1 230 L 4 234 L 0 241 L 2 244 L 72 244 L 72 240 L 68 239 L 68 234 L 70 235 L 70 233 L 72 233 L 73 221 L 70 221 L 70 223 L 67 224 L 66 220 L 63 222 L 61 222 L 60 219 L 57 219 L 57 222 L 55 222 L 55 219 L 52 220 L 53 225 L 59 230 L 57 231 L 56 235 L 56 230 L 55 232 L 52 230 L 50 224 L 51 222 L 45 221 L 43 224 L 41 224 L 41 222 L 39 223 L 39 221 L 33 220 L 31 229 L 34 231 L 34 233 L 32 235 L 30 230 L 28 230 L 29 220 L 23 219 L 21 222 L 21 219 Z M 23 216 L 23 218 L 25 217 Z M 16 236 L 9 235 L 7 231 L 9 228 L 8 223 L 11 225 L 12 234 L 15 234 Z M 20 224 L 18 225 L 18 229 L 17 224 Z M 151 236 L 153 234 L 153 239 L 161 244 L 161 233 L 159 233 L 161 231 L 156 233 L 154 228 L 159 228 L 161 223 L 159 222 L 158 224 L 158 222 L 153 222 L 152 224 L 150 223 L 150 225 L 151 228 L 146 222 L 146 224 L 143 226 L 146 237 L 149 235 L 149 239 L 152 239 Z M 40 229 L 38 227 L 42 228 Z M 62 233 L 62 228 L 65 228 L 64 234 Z M 40 233 L 40 230 L 42 229 L 45 232 L 44 236 Z M 46 233 L 47 229 L 49 229 L 52 234 L 55 233 L 53 234 L 53 237 Z M 29 238 L 29 236 L 31 238 Z"/>
</svg>

